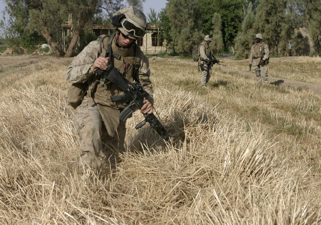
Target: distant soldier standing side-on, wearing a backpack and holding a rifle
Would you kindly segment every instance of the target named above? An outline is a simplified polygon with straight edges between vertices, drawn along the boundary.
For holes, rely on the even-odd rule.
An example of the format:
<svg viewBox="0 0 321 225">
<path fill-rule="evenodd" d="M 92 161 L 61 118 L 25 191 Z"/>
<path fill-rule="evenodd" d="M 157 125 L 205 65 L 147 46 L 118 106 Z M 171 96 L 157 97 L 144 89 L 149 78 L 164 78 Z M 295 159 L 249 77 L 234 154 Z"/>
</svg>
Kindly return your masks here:
<svg viewBox="0 0 321 225">
<path fill-rule="evenodd" d="M 198 65 L 200 66 L 202 72 L 200 85 L 202 87 L 206 86 L 212 75 L 212 67 L 209 66 L 212 58 L 212 52 L 209 47 L 211 41 L 213 41 L 213 35 L 206 35 L 204 41 L 199 45 Z"/>
</svg>

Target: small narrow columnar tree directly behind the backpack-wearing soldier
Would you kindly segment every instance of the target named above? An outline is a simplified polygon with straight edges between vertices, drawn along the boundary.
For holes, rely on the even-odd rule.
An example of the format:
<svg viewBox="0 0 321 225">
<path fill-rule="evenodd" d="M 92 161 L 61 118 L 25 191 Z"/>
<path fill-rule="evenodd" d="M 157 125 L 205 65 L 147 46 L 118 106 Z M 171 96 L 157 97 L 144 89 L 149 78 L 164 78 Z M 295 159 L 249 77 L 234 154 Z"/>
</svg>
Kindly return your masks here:
<svg viewBox="0 0 321 225">
<path fill-rule="evenodd" d="M 210 43 L 210 48 L 214 55 L 217 55 L 223 49 L 223 38 L 222 38 L 222 20 L 219 13 L 214 13 L 213 19 L 213 41 Z"/>
</svg>

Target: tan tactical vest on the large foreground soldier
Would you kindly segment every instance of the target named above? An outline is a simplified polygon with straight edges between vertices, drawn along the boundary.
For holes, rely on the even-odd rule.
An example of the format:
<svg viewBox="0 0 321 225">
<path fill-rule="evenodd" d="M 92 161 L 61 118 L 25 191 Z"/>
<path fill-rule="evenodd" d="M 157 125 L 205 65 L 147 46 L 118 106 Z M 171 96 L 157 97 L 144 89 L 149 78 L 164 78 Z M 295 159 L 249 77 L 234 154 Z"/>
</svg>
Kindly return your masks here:
<svg viewBox="0 0 321 225">
<path fill-rule="evenodd" d="M 100 44 L 100 52 L 107 53 L 107 46 L 109 43 L 109 37 L 103 36 L 103 40 Z M 117 46 L 116 38 L 112 39 L 111 48 L 112 48 L 112 60 L 114 67 L 122 74 L 127 80 L 133 82 L 134 79 L 138 80 L 138 77 L 134 78 L 136 71 L 140 66 L 140 52 L 141 49 L 136 43 L 133 43 L 129 48 L 120 48 Z M 98 54 L 98 56 L 100 53 Z M 94 82 L 94 81 L 93 81 Z M 126 103 L 123 101 L 112 102 L 110 96 L 112 95 L 123 95 L 124 92 L 121 91 L 115 84 L 112 82 L 103 82 L 102 78 L 100 79 L 99 84 L 97 85 L 96 92 L 94 93 L 93 100 L 95 103 L 101 105 L 109 106 L 113 109 L 124 109 L 126 108 Z"/>
</svg>

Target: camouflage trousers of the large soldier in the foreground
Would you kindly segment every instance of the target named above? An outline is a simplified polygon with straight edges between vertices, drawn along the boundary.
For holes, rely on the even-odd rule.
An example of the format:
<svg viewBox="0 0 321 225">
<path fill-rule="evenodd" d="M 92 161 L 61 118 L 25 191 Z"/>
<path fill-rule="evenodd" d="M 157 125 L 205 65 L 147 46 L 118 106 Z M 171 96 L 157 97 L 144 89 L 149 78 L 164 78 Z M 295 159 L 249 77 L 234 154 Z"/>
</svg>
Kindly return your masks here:
<svg viewBox="0 0 321 225">
<path fill-rule="evenodd" d="M 120 121 L 115 136 L 109 136 L 97 106 L 92 106 L 91 100 L 84 99 L 76 109 L 74 124 L 81 145 L 76 162 L 78 173 L 88 169 L 100 170 L 100 151 L 104 153 L 107 163 L 112 166 L 116 164 L 119 154 L 125 151 L 126 122 Z"/>
</svg>

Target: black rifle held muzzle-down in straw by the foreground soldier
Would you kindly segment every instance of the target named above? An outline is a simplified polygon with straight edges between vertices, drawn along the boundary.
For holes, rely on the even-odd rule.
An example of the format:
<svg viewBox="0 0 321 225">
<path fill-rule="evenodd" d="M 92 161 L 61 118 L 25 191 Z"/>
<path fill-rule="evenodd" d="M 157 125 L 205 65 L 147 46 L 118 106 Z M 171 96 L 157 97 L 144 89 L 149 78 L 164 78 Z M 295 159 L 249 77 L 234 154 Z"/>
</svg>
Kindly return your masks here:
<svg viewBox="0 0 321 225">
<path fill-rule="evenodd" d="M 97 68 L 95 70 L 95 73 L 103 79 L 104 83 L 110 81 L 124 92 L 123 95 L 110 96 L 113 102 L 121 100 L 127 104 L 127 107 L 124 108 L 119 114 L 119 119 L 125 121 L 133 114 L 134 111 L 143 107 L 143 100 L 145 97 L 148 97 L 149 94 L 143 90 L 140 82 L 131 83 L 130 81 L 128 81 L 117 71 L 117 69 L 112 65 L 110 61 L 106 70 Z M 136 129 L 141 128 L 146 122 L 148 122 L 149 125 L 156 131 L 157 134 L 160 135 L 161 138 L 169 140 L 169 137 L 173 136 L 168 133 L 168 131 L 155 117 L 154 114 L 144 113 L 143 115 L 145 119 L 135 126 Z"/>
</svg>

